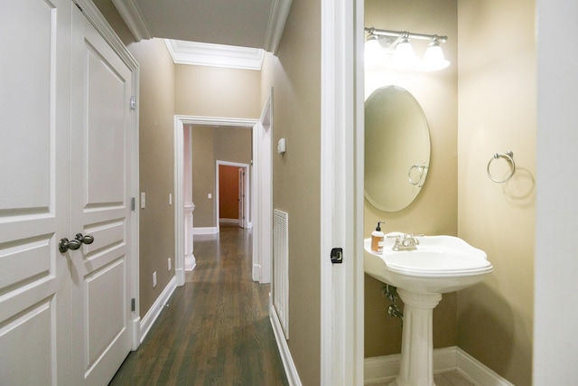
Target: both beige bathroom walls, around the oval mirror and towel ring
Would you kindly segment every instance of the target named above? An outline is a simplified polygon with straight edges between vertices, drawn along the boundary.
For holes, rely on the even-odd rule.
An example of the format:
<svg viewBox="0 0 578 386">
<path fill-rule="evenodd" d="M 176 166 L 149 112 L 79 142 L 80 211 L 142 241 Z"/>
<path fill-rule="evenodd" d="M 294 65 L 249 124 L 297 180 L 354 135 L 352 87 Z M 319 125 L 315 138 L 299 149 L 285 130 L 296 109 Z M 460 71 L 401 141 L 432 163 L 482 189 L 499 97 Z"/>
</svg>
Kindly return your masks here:
<svg viewBox="0 0 578 386">
<path fill-rule="evenodd" d="M 485 250 L 494 274 L 457 296 L 444 295 L 434 313 L 434 334 L 442 336 L 434 344 L 453 341 L 508 381 L 531 384 L 534 2 L 367 0 L 366 25 L 447 34 L 443 49 L 452 61 L 452 70 L 431 76 L 366 72 L 367 93 L 395 83 L 420 101 L 433 155 L 424 191 L 409 208 L 383 213 L 366 202 L 366 236 L 383 219 L 384 231 L 457 234 Z M 506 150 L 514 152 L 517 173 L 507 184 L 495 184 L 486 167 L 494 153 Z M 366 277 L 366 356 L 399 352 L 399 324 L 385 314 L 380 287 Z"/>
</svg>

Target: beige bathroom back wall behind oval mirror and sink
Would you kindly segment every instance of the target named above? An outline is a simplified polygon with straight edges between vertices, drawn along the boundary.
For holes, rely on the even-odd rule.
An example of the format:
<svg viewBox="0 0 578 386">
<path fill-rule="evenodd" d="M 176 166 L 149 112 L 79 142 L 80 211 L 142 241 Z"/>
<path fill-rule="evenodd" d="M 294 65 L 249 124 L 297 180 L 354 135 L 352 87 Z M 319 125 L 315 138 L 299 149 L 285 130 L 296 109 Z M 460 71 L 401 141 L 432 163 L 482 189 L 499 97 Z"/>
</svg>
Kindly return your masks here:
<svg viewBox="0 0 578 386">
<path fill-rule="evenodd" d="M 365 201 L 365 237 L 386 221 L 382 231 L 457 234 L 457 1 L 366 0 L 365 25 L 386 30 L 437 33 L 448 36 L 443 52 L 452 65 L 431 73 L 366 69 L 366 96 L 374 89 L 395 84 L 411 92 L 424 109 L 430 128 L 431 162 L 424 189 L 406 209 L 380 212 Z M 413 42 L 424 52 L 427 42 Z M 383 284 L 365 276 L 365 356 L 401 352 L 399 319 L 387 315 L 390 302 L 381 296 Z M 445 294 L 433 311 L 435 347 L 457 343 L 457 296 Z"/>
</svg>

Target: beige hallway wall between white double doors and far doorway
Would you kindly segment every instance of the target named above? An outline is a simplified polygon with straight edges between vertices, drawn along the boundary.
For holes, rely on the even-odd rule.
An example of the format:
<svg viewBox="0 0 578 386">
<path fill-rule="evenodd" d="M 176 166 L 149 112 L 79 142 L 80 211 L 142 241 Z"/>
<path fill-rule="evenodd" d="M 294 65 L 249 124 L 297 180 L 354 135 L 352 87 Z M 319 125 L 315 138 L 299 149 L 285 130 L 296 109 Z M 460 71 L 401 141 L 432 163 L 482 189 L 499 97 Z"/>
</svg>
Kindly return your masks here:
<svg viewBox="0 0 578 386">
<path fill-rule="evenodd" d="M 174 207 L 169 204 L 174 189 L 174 66 L 162 40 L 132 43 L 128 50 L 140 66 L 140 191 L 146 194 L 146 207 L 140 210 L 139 296 L 143 316 L 174 276 L 174 269 L 168 270 L 166 263 L 169 258 L 174 262 Z"/>
</svg>

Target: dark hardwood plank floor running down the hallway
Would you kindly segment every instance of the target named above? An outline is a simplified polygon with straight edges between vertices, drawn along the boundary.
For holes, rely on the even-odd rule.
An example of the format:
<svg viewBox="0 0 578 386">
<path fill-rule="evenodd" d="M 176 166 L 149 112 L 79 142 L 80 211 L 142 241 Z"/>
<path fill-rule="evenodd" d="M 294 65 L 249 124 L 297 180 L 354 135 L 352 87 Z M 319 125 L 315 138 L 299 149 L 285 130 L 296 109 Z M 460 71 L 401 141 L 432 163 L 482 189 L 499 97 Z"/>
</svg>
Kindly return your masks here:
<svg viewBox="0 0 578 386">
<path fill-rule="evenodd" d="M 287 385 L 251 253 L 251 231 L 236 226 L 195 236 L 197 267 L 109 384 Z"/>
</svg>

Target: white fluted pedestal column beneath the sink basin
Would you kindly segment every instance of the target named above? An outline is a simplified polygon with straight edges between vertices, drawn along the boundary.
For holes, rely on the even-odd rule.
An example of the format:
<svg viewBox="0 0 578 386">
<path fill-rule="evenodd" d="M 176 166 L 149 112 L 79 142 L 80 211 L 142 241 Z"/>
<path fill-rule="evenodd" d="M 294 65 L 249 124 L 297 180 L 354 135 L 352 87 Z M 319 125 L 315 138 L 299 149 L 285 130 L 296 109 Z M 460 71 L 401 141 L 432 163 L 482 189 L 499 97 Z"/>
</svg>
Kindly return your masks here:
<svg viewBox="0 0 578 386">
<path fill-rule="evenodd" d="M 434 386 L 433 308 L 442 294 L 414 294 L 397 288 L 404 302 L 401 364 L 390 386 Z"/>
</svg>

